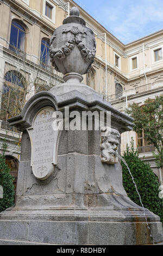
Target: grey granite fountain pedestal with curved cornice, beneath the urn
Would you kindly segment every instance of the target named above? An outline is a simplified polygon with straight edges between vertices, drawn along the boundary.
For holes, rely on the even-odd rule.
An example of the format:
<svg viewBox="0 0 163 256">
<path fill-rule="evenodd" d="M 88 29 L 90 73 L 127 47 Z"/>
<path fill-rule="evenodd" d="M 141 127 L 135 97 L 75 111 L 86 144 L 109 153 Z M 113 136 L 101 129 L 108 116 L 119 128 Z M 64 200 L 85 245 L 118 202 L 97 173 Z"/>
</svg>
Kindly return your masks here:
<svg viewBox="0 0 163 256">
<path fill-rule="evenodd" d="M 120 133 L 133 126 L 130 117 L 113 109 L 109 102 L 81 83 L 61 84 L 49 92 L 34 95 L 21 116 L 10 119 L 23 132 L 22 149 L 16 205 L 0 215 L 0 244 L 152 244 L 143 209 L 131 202 L 122 186 L 120 161 L 115 164 L 101 161 L 100 131 L 61 131 L 55 148 L 57 164 L 53 165 L 51 175 L 42 180 L 35 178 L 28 129 L 40 109 L 64 111 L 65 106 L 70 107 L 70 112 L 110 111 L 111 126 Z M 41 141 L 46 139 L 42 136 Z M 161 243 L 160 218 L 147 209 L 145 214 L 154 242 Z"/>
</svg>

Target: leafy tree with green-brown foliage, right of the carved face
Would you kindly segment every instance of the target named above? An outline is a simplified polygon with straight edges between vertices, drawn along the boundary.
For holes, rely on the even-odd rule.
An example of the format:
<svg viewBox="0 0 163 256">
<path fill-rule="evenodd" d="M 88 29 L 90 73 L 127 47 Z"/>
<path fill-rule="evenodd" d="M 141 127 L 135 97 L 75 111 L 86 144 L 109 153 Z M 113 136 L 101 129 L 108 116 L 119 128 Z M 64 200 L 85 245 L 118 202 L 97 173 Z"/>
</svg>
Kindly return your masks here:
<svg viewBox="0 0 163 256">
<path fill-rule="evenodd" d="M 133 130 L 137 133 L 144 131 L 145 139 L 156 148 L 153 155 L 163 171 L 163 95 L 146 100 L 142 107 L 133 103 L 127 113 L 134 118 Z"/>
</svg>

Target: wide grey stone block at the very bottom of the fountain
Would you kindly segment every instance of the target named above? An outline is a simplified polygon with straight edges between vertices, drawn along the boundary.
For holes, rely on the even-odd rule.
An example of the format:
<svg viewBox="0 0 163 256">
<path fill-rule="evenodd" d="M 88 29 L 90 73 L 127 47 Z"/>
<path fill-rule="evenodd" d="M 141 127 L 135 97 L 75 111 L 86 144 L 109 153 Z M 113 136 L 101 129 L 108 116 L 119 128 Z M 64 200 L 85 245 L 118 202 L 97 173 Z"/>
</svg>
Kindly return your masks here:
<svg viewBox="0 0 163 256">
<path fill-rule="evenodd" d="M 60 215 L 35 212 L 0 220 L 0 245 L 152 245 L 163 243 L 162 224 L 155 215 L 145 218 L 107 211 L 88 215 L 83 211 Z M 103 212 L 104 214 L 104 212 Z M 21 220 L 22 218 L 22 220 Z"/>
</svg>

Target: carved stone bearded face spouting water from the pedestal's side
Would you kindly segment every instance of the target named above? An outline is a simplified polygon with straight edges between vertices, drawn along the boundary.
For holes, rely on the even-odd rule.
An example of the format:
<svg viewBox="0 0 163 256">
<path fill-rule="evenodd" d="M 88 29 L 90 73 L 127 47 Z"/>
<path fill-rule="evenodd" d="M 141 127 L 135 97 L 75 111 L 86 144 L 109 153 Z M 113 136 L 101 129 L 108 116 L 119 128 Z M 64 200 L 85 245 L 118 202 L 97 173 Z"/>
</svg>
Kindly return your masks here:
<svg viewBox="0 0 163 256">
<path fill-rule="evenodd" d="M 101 130 L 105 132 L 102 136 L 101 156 L 104 163 L 117 163 L 118 162 L 118 145 L 120 144 L 120 133 L 115 129 L 107 132 L 107 129 Z"/>
</svg>

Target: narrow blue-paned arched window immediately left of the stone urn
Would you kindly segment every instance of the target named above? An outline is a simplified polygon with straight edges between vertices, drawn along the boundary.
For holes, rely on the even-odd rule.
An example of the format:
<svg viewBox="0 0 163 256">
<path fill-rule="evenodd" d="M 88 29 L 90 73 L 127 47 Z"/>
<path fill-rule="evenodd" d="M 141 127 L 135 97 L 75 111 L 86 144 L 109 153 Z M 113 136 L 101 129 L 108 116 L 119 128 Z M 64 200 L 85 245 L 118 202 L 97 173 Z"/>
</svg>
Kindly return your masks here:
<svg viewBox="0 0 163 256">
<path fill-rule="evenodd" d="M 43 38 L 41 41 L 41 56 L 40 56 L 40 62 L 41 66 L 46 67 L 49 65 L 50 59 L 49 59 L 49 40 L 46 38 Z"/>
</svg>

